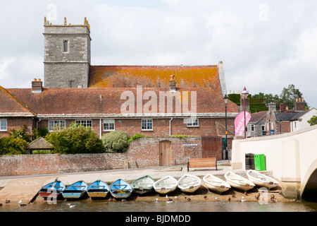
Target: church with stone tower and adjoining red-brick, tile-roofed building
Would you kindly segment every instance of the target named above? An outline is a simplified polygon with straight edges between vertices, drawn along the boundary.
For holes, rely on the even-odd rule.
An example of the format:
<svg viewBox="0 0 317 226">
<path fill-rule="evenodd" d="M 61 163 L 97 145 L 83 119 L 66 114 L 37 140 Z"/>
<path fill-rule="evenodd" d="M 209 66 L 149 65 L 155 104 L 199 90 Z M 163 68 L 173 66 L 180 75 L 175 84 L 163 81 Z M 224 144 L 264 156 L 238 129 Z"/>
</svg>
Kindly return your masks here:
<svg viewBox="0 0 317 226">
<path fill-rule="evenodd" d="M 98 136 L 127 131 L 148 136 L 225 137 L 223 63 L 205 66 L 92 66 L 89 23 L 44 21 L 44 84 L 0 86 L 0 136 L 32 129 L 92 127 Z M 228 102 L 228 138 L 237 105 Z M 221 144 L 222 145 L 222 144 Z M 230 148 L 230 143 L 228 143 Z M 221 147 L 218 147 L 221 150 Z"/>
</svg>

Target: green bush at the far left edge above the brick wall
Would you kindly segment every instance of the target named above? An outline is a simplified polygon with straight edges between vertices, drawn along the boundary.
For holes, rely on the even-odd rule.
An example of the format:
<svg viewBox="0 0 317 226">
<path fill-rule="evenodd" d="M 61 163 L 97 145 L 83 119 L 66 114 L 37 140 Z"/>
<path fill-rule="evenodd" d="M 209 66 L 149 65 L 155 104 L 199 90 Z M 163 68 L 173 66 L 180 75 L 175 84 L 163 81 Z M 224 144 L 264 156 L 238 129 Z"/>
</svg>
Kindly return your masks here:
<svg viewBox="0 0 317 226">
<path fill-rule="evenodd" d="M 0 155 L 23 155 L 26 154 L 24 147 L 27 141 L 23 138 L 14 138 L 13 136 L 4 136 L 0 138 Z"/>
</svg>

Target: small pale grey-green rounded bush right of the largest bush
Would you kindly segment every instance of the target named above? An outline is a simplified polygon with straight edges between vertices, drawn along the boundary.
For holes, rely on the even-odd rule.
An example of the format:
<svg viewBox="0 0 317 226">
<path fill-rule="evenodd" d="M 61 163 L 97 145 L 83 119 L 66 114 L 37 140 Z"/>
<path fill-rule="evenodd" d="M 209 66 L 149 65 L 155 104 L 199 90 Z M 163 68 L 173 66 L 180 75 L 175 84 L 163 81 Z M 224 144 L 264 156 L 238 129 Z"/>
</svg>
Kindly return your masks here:
<svg viewBox="0 0 317 226">
<path fill-rule="evenodd" d="M 101 137 L 106 152 L 125 153 L 128 150 L 129 136 L 123 131 L 111 131 Z"/>
</svg>

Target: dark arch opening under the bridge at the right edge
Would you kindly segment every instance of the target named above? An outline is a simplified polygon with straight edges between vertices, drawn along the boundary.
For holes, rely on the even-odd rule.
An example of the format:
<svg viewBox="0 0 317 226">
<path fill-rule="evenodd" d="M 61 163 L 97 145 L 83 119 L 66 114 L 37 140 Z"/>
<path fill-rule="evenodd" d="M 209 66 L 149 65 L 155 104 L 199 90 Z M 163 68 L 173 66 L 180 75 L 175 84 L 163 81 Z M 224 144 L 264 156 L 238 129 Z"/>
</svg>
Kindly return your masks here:
<svg viewBox="0 0 317 226">
<path fill-rule="evenodd" d="M 301 183 L 300 194 L 304 201 L 317 201 L 317 160 L 307 169 Z"/>
</svg>

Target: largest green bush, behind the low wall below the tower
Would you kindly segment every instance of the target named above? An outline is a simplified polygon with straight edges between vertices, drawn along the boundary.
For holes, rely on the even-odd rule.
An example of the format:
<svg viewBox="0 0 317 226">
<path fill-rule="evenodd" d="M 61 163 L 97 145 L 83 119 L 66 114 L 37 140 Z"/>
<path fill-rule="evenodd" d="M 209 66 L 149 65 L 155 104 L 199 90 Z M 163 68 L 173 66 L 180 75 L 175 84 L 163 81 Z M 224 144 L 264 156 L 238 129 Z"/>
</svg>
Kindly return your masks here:
<svg viewBox="0 0 317 226">
<path fill-rule="evenodd" d="M 71 124 L 70 128 L 54 131 L 45 136 L 54 145 L 53 153 L 102 153 L 104 146 L 97 134 L 85 126 Z"/>
</svg>

